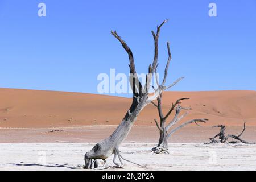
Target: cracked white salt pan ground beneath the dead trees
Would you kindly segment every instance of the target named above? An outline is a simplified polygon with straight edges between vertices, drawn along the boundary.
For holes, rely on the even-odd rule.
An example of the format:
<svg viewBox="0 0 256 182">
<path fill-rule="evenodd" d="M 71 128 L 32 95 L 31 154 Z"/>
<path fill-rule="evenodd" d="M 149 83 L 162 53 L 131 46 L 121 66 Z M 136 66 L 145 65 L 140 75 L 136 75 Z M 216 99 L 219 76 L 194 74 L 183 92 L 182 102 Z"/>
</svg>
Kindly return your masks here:
<svg viewBox="0 0 256 182">
<path fill-rule="evenodd" d="M 82 169 L 90 143 L 0 144 L 0 170 Z M 142 168 L 125 162 L 115 170 L 256 170 L 255 144 L 170 144 L 170 154 L 151 154 L 154 144 L 124 143 L 122 155 Z M 107 159 L 113 165 L 113 156 Z M 109 168 L 109 170 L 113 170 Z"/>
</svg>

